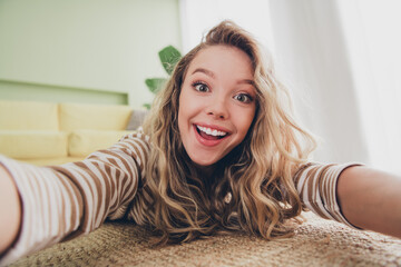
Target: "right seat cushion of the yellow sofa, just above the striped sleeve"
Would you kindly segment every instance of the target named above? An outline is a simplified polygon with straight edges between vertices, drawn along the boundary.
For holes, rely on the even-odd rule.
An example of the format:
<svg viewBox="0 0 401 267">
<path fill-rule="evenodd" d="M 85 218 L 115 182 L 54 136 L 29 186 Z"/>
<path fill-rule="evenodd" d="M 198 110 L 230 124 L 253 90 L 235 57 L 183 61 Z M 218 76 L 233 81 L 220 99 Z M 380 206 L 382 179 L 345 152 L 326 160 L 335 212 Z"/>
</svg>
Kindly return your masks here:
<svg viewBox="0 0 401 267">
<path fill-rule="evenodd" d="M 133 131 L 75 130 L 69 136 L 69 156 L 87 157 L 99 149 L 109 148 L 130 132 Z"/>
</svg>

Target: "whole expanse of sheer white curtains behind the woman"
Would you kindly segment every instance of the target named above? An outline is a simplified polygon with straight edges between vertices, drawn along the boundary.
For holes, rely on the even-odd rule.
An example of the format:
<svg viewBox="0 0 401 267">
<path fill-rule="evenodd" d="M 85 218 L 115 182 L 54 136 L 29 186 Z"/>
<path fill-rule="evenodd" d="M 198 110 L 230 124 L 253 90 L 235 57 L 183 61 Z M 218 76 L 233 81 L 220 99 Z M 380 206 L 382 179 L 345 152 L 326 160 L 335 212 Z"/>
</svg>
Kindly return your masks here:
<svg viewBox="0 0 401 267">
<path fill-rule="evenodd" d="M 400 36 L 394 32 L 401 26 L 394 21 L 400 10 L 395 3 L 182 0 L 184 49 L 197 44 L 219 20 L 234 20 L 273 52 L 301 121 L 320 137 L 315 160 L 360 161 L 400 171 L 401 58 L 394 55 L 401 43 L 383 33 L 392 29 L 391 34 Z M 387 19 L 379 19 L 383 6 Z"/>
</svg>

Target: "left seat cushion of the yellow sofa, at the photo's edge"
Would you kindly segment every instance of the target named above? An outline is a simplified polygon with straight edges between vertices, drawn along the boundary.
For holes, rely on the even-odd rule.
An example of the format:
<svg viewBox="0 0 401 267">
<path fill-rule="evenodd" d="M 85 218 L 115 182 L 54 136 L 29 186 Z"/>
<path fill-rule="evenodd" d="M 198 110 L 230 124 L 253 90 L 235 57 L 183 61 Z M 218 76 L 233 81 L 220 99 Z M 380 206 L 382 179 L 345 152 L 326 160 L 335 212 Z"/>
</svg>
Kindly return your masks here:
<svg viewBox="0 0 401 267">
<path fill-rule="evenodd" d="M 16 159 L 67 157 L 66 132 L 0 131 L 0 152 Z"/>
</svg>

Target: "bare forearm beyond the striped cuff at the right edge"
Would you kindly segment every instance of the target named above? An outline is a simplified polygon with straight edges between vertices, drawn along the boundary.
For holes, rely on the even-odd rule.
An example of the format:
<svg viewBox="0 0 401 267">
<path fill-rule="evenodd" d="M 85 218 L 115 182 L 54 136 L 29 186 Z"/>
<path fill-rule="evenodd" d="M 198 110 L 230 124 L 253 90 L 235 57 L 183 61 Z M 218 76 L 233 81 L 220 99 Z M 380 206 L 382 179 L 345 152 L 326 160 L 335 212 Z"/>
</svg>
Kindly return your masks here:
<svg viewBox="0 0 401 267">
<path fill-rule="evenodd" d="M 346 220 L 362 229 L 401 238 L 401 177 L 363 166 L 344 169 L 338 201 Z"/>
</svg>

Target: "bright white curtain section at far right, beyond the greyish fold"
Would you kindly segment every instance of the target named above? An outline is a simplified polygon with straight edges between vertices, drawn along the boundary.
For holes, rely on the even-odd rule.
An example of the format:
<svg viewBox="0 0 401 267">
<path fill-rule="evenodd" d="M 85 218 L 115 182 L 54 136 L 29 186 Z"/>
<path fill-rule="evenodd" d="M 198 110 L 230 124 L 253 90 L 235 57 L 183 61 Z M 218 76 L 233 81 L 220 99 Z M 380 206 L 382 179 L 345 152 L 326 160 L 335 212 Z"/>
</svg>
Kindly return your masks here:
<svg viewBox="0 0 401 267">
<path fill-rule="evenodd" d="M 401 1 L 338 3 L 370 162 L 401 174 Z"/>
</svg>

